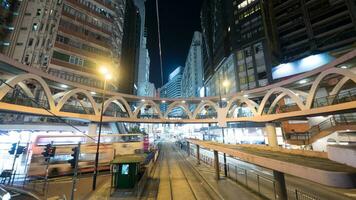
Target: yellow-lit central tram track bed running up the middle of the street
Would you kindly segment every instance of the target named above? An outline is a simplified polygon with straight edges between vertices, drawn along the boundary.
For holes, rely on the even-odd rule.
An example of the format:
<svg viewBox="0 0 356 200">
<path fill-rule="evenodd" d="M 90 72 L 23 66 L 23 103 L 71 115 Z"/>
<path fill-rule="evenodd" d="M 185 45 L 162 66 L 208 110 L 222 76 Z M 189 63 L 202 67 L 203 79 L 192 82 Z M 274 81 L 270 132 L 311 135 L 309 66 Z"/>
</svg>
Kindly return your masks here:
<svg viewBox="0 0 356 200">
<path fill-rule="evenodd" d="M 224 199 L 173 144 L 162 144 L 159 158 L 150 177 L 140 199 Z"/>
</svg>

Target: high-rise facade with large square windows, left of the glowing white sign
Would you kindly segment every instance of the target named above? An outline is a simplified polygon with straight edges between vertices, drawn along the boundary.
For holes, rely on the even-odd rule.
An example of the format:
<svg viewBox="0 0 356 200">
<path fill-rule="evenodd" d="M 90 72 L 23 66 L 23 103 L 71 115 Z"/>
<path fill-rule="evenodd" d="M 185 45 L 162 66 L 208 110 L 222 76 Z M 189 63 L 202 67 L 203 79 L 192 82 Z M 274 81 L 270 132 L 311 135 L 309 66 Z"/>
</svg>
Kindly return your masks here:
<svg viewBox="0 0 356 200">
<path fill-rule="evenodd" d="M 275 49 L 265 1 L 232 1 L 231 45 L 236 58 L 237 91 L 267 85 L 272 80 L 271 66 Z"/>
</svg>

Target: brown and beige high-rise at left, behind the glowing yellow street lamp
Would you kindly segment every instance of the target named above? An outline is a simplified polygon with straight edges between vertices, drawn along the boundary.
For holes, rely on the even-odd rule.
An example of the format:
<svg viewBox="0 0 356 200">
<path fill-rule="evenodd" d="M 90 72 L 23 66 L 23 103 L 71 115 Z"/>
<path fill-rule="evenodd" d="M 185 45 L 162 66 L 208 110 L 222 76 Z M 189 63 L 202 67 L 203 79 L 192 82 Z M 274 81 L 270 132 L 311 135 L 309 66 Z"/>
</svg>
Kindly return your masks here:
<svg viewBox="0 0 356 200">
<path fill-rule="evenodd" d="M 10 34 L 0 39 L 1 52 L 31 67 L 91 87 L 102 87 L 103 80 L 97 73 L 105 65 L 114 77 L 109 89 L 130 92 L 134 81 L 123 81 L 122 77 L 131 78 L 129 75 L 135 73 L 126 66 L 132 68 L 127 60 L 130 56 L 135 60 L 137 54 L 127 47 L 136 50 L 132 48 L 135 45 L 131 41 L 136 39 L 132 32 L 140 28 L 132 23 L 140 23 L 134 18 L 137 8 L 132 1 L 18 1 L 19 8 L 12 9 L 18 12 L 8 24 Z"/>
</svg>

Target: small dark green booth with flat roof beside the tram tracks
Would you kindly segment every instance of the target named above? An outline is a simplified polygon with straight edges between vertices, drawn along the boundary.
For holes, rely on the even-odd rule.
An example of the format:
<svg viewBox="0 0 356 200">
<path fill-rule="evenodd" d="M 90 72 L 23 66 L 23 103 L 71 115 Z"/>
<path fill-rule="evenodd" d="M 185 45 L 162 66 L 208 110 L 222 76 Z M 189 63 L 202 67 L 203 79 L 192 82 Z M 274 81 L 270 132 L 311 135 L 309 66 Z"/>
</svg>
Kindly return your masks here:
<svg viewBox="0 0 356 200">
<path fill-rule="evenodd" d="M 112 182 L 114 189 L 134 189 L 138 180 L 144 154 L 119 155 L 111 162 Z"/>
</svg>

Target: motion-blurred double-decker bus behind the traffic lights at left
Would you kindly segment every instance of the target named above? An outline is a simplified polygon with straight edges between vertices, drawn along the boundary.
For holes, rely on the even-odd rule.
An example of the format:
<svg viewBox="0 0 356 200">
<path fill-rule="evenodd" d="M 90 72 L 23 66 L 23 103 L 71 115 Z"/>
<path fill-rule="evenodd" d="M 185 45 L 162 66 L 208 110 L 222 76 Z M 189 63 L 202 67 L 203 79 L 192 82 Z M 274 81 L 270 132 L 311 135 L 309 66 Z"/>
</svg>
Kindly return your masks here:
<svg viewBox="0 0 356 200">
<path fill-rule="evenodd" d="M 72 148 L 81 143 L 79 170 L 90 172 L 94 170 L 94 161 L 98 136 L 81 135 L 39 135 L 31 148 L 31 161 L 27 176 L 45 175 L 46 161 L 42 155 L 47 144 L 53 142 L 56 147 L 55 156 L 50 159 L 49 175 L 58 176 L 72 173 L 68 160 L 72 159 Z M 144 148 L 142 134 L 110 134 L 100 137 L 99 169 L 108 170 L 110 161 L 115 155 L 127 155 L 142 152 Z"/>
</svg>

